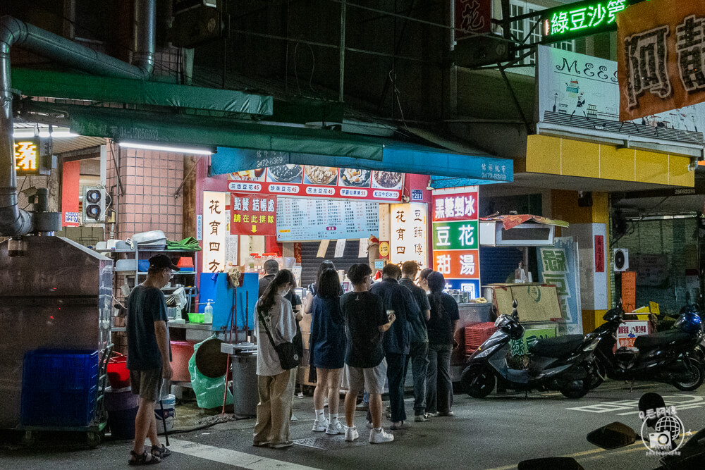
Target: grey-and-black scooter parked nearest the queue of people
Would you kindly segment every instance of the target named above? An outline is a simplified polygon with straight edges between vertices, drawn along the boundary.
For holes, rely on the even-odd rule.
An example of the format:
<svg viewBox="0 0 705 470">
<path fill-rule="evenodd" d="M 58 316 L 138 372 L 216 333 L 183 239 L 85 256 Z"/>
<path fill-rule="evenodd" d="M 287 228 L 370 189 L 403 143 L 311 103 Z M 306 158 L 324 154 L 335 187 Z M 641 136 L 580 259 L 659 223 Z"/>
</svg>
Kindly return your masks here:
<svg viewBox="0 0 705 470">
<path fill-rule="evenodd" d="M 595 371 L 593 353 L 596 335 L 565 335 L 538 340 L 529 347 L 529 365 L 513 369 L 507 361 L 511 340 L 520 340 L 525 328 L 519 322 L 517 302 L 511 315 L 495 321 L 498 328 L 467 361 L 460 376 L 463 389 L 471 397 L 484 398 L 494 390 L 496 381 L 511 390 L 558 390 L 568 398 L 583 397 Z"/>
</svg>

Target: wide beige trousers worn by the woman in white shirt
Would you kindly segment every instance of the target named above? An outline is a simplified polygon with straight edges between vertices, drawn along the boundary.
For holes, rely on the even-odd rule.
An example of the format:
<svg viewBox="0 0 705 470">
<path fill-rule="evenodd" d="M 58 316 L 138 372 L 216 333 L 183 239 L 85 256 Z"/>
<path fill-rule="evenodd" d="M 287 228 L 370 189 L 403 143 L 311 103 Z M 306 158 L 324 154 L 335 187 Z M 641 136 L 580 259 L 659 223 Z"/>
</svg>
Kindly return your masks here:
<svg viewBox="0 0 705 470">
<path fill-rule="evenodd" d="M 288 442 L 295 385 L 295 368 L 276 376 L 257 376 L 259 403 L 257 404 L 257 424 L 255 424 L 255 444 Z"/>
</svg>

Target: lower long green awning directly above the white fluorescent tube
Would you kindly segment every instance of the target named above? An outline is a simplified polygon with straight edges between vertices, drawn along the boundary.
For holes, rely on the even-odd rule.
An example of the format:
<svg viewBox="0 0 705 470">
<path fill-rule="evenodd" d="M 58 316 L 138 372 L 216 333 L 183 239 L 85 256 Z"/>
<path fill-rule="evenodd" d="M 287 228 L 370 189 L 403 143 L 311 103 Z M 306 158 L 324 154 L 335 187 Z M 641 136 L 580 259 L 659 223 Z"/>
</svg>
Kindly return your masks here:
<svg viewBox="0 0 705 470">
<path fill-rule="evenodd" d="M 71 131 L 118 142 L 142 141 L 165 145 L 238 147 L 301 154 L 348 156 L 381 160 L 384 145 L 369 137 L 338 130 L 243 123 L 225 118 L 169 115 L 116 108 L 38 104 L 35 109 L 61 109 L 70 116 Z"/>
</svg>

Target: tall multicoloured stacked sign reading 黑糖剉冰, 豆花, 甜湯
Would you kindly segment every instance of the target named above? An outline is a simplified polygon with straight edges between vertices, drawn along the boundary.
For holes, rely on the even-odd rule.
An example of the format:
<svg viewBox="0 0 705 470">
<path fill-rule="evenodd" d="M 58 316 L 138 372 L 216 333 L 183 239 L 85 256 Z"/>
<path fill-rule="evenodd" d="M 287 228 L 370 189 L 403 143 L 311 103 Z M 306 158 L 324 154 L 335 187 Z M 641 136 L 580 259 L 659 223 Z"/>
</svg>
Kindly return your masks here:
<svg viewBox="0 0 705 470">
<path fill-rule="evenodd" d="M 470 191 L 468 191 L 470 189 Z M 434 270 L 446 285 L 480 296 L 477 190 L 447 188 L 431 195 Z"/>
</svg>

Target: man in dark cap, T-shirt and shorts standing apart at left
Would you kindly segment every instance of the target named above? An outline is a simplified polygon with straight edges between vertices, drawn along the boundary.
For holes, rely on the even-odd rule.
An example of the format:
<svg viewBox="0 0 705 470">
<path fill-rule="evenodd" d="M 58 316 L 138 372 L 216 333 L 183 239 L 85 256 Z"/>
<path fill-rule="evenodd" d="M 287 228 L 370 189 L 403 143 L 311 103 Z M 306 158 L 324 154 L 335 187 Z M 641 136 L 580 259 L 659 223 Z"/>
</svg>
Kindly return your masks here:
<svg viewBox="0 0 705 470">
<path fill-rule="evenodd" d="M 144 283 L 135 286 L 128 297 L 125 330 L 128 336 L 128 369 L 130 386 L 140 395 L 140 408 L 135 418 L 135 446 L 130 452 L 130 465 L 157 464 L 171 452 L 159 444 L 154 402 L 159 400 L 162 378 L 171 378 L 171 345 L 166 328 L 166 299 L 161 288 L 168 284 L 174 266 L 166 254 L 149 258 L 149 271 Z M 145 450 L 145 438 L 152 448 Z"/>
</svg>

